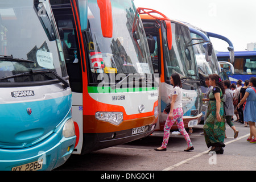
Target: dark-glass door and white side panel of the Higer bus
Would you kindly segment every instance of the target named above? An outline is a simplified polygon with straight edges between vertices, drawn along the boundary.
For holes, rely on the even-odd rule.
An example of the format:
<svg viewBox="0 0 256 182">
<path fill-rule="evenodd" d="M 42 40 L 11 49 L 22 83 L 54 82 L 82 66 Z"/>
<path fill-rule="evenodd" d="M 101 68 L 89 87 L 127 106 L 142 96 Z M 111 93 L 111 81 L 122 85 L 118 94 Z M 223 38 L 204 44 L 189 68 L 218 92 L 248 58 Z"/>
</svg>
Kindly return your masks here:
<svg viewBox="0 0 256 182">
<path fill-rule="evenodd" d="M 69 2 L 69 1 L 68 1 Z M 73 154 L 80 154 L 82 150 L 82 66 L 77 42 L 75 19 L 71 9 L 71 3 L 61 6 L 52 6 L 57 27 L 59 29 L 61 46 L 63 47 L 65 63 L 68 71 L 69 82 L 72 89 L 72 118 L 76 130 L 76 144 Z M 63 12 L 65 11 L 65 13 Z"/>
</svg>

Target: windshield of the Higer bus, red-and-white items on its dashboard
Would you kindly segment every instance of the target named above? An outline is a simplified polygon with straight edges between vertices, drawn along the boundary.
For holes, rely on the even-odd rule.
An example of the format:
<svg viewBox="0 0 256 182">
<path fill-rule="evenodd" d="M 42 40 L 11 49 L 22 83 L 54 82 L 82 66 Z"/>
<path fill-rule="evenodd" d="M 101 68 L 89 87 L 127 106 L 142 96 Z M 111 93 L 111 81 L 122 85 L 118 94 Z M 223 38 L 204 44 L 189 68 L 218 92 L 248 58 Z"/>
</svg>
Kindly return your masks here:
<svg viewBox="0 0 256 182">
<path fill-rule="evenodd" d="M 84 33 L 88 42 L 91 74 L 153 73 L 146 35 L 133 1 L 115 0 L 111 3 L 112 38 L 102 36 L 97 1 L 88 1 L 88 17 L 80 17 L 81 22 L 84 22 L 83 18 L 88 18 Z"/>
</svg>

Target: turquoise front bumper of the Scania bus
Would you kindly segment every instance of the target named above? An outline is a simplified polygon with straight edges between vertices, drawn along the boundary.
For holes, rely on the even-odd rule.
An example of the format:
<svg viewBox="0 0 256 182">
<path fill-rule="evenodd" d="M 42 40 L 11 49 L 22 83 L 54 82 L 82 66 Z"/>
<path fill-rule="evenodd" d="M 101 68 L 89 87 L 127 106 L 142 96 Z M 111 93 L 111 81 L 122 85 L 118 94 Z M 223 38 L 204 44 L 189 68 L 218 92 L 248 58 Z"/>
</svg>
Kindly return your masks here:
<svg viewBox="0 0 256 182">
<path fill-rule="evenodd" d="M 71 156 L 76 142 L 76 135 L 69 138 L 63 137 L 62 129 L 31 147 L 0 148 L 0 170 L 52 170 L 61 166 Z"/>
</svg>

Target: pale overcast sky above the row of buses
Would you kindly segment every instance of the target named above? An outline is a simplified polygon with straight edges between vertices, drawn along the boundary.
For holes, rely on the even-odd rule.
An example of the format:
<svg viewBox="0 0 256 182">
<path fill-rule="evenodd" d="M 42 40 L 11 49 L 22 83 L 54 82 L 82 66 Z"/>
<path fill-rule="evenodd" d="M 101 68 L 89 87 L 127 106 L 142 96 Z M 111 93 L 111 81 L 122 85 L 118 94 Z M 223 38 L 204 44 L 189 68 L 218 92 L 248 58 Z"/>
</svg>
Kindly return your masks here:
<svg viewBox="0 0 256 182">
<path fill-rule="evenodd" d="M 134 0 L 136 7 L 160 11 L 170 19 L 197 26 L 230 39 L 235 51 L 256 42 L 255 0 Z M 211 38 L 214 49 L 228 51 L 228 43 Z"/>
</svg>

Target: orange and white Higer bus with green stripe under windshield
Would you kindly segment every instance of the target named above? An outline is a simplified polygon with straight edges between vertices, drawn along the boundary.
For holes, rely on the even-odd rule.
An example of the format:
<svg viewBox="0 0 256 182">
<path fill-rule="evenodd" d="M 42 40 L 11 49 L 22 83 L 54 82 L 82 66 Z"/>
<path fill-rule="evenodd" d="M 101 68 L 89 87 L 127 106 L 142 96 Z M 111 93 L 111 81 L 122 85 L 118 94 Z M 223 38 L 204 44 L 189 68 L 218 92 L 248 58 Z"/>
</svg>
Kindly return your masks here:
<svg viewBox="0 0 256 182">
<path fill-rule="evenodd" d="M 72 89 L 73 154 L 150 135 L 158 85 L 133 1 L 51 0 Z"/>
</svg>

